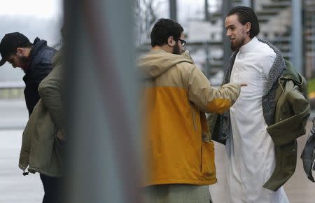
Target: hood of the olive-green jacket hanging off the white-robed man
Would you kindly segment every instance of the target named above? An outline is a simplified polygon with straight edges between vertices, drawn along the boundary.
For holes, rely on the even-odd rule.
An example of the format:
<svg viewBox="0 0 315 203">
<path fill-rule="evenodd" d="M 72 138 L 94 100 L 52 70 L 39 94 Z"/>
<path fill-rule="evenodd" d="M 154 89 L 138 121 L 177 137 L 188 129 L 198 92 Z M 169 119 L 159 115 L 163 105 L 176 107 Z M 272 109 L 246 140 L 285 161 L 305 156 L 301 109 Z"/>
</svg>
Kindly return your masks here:
<svg viewBox="0 0 315 203">
<path fill-rule="evenodd" d="M 305 78 L 301 76 L 301 74 L 295 70 L 295 67 L 293 66 L 291 62 L 289 62 L 286 59 L 285 59 L 285 62 L 286 62 L 286 69 L 283 71 L 281 78 L 279 78 L 281 85 L 282 83 L 286 81 L 286 79 L 290 79 L 290 80 L 293 80 L 293 83 L 295 85 L 300 87 L 301 92 L 305 93 L 307 90 L 307 82 Z"/>
</svg>

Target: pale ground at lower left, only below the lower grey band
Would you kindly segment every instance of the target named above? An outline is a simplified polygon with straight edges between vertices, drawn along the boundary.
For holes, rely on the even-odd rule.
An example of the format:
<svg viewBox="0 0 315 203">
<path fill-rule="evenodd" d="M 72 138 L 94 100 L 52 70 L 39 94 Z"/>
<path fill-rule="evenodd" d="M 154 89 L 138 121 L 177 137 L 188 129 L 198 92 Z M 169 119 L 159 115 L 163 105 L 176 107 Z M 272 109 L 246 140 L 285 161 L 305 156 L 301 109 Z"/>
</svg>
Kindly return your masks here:
<svg viewBox="0 0 315 203">
<path fill-rule="evenodd" d="M 22 130 L 0 130 L 0 202 L 40 203 L 43 188 L 38 174 L 22 175 L 18 167 Z"/>
</svg>

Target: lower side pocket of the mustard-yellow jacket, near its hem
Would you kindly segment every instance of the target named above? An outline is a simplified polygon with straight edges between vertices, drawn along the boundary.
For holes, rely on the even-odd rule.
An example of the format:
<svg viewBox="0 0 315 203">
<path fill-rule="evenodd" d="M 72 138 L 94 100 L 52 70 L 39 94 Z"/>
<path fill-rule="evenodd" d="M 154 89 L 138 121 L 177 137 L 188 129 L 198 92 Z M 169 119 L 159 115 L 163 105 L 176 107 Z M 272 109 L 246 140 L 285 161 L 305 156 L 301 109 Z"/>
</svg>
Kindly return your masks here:
<svg viewBox="0 0 315 203">
<path fill-rule="evenodd" d="M 216 177 L 216 165 L 214 163 L 214 142 L 202 141 L 202 179 L 214 179 Z"/>
</svg>

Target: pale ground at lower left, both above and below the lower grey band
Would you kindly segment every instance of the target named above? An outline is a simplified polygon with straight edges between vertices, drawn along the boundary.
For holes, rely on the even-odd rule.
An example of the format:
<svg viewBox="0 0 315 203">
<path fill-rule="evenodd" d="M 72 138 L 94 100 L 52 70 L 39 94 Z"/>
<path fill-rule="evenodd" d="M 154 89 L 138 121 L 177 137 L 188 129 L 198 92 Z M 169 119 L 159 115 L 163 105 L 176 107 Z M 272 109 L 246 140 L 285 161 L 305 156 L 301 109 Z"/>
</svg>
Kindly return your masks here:
<svg viewBox="0 0 315 203">
<path fill-rule="evenodd" d="M 27 118 L 24 101 L 0 100 L 0 203 L 40 203 L 43 197 L 38 174 L 23 176 L 18 167 Z"/>
</svg>

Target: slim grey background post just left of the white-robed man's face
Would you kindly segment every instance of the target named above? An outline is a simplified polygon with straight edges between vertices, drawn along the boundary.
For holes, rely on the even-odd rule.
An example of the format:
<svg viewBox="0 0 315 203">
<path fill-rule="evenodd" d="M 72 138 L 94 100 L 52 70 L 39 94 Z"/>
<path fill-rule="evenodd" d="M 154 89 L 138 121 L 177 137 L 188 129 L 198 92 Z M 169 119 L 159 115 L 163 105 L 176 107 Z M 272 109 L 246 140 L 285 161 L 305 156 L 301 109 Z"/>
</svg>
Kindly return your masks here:
<svg viewBox="0 0 315 203">
<path fill-rule="evenodd" d="M 228 63 L 230 62 L 230 56 L 232 54 L 232 51 L 230 49 L 230 40 L 226 36 L 226 31 L 225 31 L 225 18 L 230 9 L 232 8 L 232 2 L 231 0 L 223 0 L 222 3 L 222 18 L 223 18 L 223 33 L 222 33 L 222 39 L 223 39 L 223 66 L 224 66 L 224 72 L 227 69 Z"/>
</svg>

